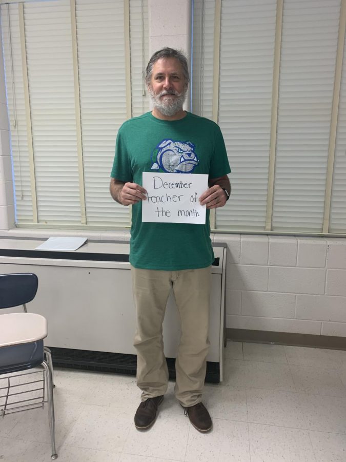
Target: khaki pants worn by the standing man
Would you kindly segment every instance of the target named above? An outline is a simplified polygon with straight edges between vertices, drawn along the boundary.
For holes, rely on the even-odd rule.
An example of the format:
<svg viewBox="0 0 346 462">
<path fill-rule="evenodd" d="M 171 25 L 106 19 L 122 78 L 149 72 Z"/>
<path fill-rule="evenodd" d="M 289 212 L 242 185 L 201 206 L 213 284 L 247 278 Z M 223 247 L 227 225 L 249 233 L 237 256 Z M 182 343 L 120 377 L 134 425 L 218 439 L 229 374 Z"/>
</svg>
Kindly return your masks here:
<svg viewBox="0 0 346 462">
<path fill-rule="evenodd" d="M 156 271 L 131 266 L 137 330 L 137 386 L 141 400 L 164 395 L 168 369 L 164 355 L 162 322 L 173 288 L 181 321 L 175 361 L 175 396 L 182 406 L 201 400 L 209 351 L 209 300 L 211 266 L 181 271 Z"/>
</svg>

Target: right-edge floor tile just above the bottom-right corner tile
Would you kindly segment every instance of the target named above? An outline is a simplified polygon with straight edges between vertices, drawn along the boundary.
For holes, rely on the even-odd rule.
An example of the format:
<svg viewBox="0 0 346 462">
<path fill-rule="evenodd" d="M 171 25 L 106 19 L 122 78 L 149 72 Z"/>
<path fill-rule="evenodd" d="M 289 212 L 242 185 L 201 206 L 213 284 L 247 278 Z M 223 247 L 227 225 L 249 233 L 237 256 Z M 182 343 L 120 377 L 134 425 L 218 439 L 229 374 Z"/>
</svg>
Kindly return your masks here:
<svg viewBox="0 0 346 462">
<path fill-rule="evenodd" d="M 307 429 L 346 433 L 346 400 L 339 397 L 299 394 Z M 346 437 L 345 437 L 346 438 Z"/>
</svg>

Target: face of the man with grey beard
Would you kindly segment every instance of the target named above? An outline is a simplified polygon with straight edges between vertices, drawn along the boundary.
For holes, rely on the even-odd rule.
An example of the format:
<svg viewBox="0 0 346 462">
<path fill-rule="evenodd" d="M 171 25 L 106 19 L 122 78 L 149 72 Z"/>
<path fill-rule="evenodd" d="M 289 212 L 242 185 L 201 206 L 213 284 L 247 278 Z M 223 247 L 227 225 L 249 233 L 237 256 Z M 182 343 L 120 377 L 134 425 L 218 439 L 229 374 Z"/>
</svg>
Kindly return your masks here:
<svg viewBox="0 0 346 462">
<path fill-rule="evenodd" d="M 148 87 L 154 107 L 164 115 L 175 115 L 182 109 L 187 83 L 182 66 L 175 58 L 160 59 L 153 66 Z"/>
</svg>

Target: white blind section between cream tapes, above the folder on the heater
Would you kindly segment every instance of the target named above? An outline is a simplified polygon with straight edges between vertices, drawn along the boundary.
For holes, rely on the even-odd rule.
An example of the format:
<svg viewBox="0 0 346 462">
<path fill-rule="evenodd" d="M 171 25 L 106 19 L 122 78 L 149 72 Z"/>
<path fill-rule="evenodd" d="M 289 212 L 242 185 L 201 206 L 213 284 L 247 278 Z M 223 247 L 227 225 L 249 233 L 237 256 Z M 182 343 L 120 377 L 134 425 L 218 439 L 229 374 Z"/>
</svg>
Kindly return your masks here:
<svg viewBox="0 0 346 462">
<path fill-rule="evenodd" d="M 80 223 L 70 2 L 24 5 L 39 223 Z"/>
</svg>

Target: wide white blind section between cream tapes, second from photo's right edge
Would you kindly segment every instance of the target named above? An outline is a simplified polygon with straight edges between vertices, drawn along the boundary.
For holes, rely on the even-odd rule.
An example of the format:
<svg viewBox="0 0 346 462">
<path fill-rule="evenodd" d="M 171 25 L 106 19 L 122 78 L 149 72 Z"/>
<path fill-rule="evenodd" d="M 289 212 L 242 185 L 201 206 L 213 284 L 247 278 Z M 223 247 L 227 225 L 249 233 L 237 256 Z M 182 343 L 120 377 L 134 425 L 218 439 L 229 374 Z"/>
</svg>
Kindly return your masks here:
<svg viewBox="0 0 346 462">
<path fill-rule="evenodd" d="M 283 4 L 273 230 L 321 232 L 340 1 Z"/>
</svg>

